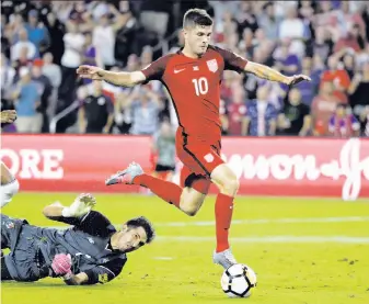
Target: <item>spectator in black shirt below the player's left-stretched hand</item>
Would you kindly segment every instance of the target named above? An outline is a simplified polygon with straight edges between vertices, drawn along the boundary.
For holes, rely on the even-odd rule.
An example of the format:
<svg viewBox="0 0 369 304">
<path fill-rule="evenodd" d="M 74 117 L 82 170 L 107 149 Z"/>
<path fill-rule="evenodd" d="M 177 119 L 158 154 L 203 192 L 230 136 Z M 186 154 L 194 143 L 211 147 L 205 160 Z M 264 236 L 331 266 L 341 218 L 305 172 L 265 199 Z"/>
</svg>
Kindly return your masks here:
<svg viewBox="0 0 369 304">
<path fill-rule="evenodd" d="M 81 133 L 107 134 L 114 122 L 114 105 L 111 98 L 103 93 L 102 81 L 93 81 L 93 93 L 88 94 L 79 110 Z"/>
</svg>

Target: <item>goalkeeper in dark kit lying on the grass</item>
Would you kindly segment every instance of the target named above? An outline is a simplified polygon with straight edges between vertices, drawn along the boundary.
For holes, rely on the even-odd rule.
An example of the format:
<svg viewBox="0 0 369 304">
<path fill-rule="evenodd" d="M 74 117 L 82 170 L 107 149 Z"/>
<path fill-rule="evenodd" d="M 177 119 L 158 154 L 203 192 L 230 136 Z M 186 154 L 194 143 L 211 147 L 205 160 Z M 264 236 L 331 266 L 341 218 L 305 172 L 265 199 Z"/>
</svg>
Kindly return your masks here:
<svg viewBox="0 0 369 304">
<path fill-rule="evenodd" d="M 95 205 L 91 194 L 81 194 L 69 206 L 44 209 L 45 216 L 72 225 L 68 229 L 42 228 L 1 214 L 1 280 L 37 281 L 61 277 L 67 284 L 106 283 L 117 277 L 131 252 L 150 243 L 154 230 L 145 217 L 126 222 L 116 230 Z"/>
</svg>

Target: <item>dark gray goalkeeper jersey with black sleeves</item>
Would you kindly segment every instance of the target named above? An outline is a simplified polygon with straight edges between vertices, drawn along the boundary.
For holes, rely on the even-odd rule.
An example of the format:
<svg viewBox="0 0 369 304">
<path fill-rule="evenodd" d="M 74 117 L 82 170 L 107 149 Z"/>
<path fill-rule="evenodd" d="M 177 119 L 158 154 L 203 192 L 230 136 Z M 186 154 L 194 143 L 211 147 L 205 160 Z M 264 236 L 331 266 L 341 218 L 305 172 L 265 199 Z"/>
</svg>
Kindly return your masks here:
<svg viewBox="0 0 369 304">
<path fill-rule="evenodd" d="M 90 284 L 105 283 L 118 275 L 127 261 L 125 254 L 113 250 L 109 239 L 116 232 L 101 213 L 91 211 L 82 218 L 49 217 L 72 225 L 67 229 L 24 225 L 19 241 L 36 238 L 46 262 L 56 254 L 70 254 L 72 272 L 85 272 Z M 23 240 L 24 239 L 24 240 Z"/>
</svg>

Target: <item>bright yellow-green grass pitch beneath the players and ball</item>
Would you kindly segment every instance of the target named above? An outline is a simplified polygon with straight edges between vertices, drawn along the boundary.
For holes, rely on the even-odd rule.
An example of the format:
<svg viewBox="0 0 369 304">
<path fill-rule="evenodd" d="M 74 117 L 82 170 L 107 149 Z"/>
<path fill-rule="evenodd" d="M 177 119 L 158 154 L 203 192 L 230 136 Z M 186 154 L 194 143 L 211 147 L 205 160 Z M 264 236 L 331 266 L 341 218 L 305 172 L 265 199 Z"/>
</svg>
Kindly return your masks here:
<svg viewBox="0 0 369 304">
<path fill-rule="evenodd" d="M 56 226 L 43 217 L 44 205 L 69 204 L 74 194 L 22 193 L 3 209 L 31 224 Z M 158 239 L 129 255 L 111 283 L 67 286 L 60 279 L 1 284 L 5 304 L 230 303 L 368 304 L 369 201 L 238 198 L 231 228 L 240 262 L 257 273 L 250 299 L 228 299 L 222 270 L 212 264 L 214 198 L 187 217 L 155 196 L 96 195 L 96 210 L 114 224 L 145 215 Z"/>
</svg>

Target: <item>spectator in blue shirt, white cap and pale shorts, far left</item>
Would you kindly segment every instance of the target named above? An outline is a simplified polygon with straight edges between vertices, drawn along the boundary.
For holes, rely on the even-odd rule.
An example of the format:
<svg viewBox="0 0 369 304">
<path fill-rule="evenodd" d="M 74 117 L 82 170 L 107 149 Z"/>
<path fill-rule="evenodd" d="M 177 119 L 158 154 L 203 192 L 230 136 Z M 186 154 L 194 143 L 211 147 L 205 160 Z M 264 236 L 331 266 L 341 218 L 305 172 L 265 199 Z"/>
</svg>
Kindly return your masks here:
<svg viewBox="0 0 369 304">
<path fill-rule="evenodd" d="M 31 71 L 27 67 L 20 69 L 20 81 L 13 90 L 13 100 L 18 120 L 16 130 L 20 133 L 39 133 L 43 119 L 37 113 L 41 105 L 41 94 L 37 85 L 31 79 Z"/>
</svg>

